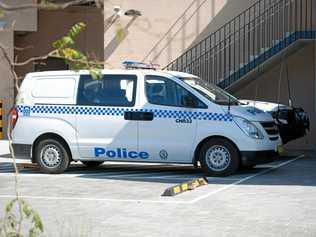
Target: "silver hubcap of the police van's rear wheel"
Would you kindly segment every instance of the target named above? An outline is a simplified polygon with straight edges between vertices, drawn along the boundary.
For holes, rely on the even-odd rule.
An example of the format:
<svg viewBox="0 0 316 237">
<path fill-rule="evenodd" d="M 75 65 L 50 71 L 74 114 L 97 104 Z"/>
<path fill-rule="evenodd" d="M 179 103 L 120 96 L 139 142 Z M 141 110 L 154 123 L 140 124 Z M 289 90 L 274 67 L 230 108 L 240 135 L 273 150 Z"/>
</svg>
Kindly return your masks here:
<svg viewBox="0 0 316 237">
<path fill-rule="evenodd" d="M 55 145 L 46 145 L 41 151 L 41 159 L 48 168 L 56 168 L 62 161 L 60 149 Z"/>
</svg>

